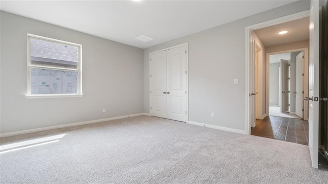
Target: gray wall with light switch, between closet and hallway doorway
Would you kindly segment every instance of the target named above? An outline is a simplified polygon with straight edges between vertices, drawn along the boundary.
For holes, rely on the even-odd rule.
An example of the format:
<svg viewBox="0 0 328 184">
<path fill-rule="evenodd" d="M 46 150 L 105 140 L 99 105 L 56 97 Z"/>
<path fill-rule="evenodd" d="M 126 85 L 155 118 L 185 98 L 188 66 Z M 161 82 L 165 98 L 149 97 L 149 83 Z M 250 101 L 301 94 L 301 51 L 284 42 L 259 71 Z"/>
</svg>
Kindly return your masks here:
<svg viewBox="0 0 328 184">
<path fill-rule="evenodd" d="M 188 42 L 189 121 L 245 130 L 245 27 L 309 7 L 309 1 L 296 2 L 145 49 L 144 111 L 149 113 L 149 53 Z"/>
</svg>

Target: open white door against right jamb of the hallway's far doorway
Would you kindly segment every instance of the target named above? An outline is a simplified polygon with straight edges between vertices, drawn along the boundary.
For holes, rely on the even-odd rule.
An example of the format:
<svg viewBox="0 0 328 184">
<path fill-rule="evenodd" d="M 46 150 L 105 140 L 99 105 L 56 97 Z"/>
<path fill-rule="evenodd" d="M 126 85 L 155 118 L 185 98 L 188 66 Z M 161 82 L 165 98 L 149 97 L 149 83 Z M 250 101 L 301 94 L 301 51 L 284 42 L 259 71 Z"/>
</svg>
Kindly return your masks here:
<svg viewBox="0 0 328 184">
<path fill-rule="evenodd" d="M 303 83 L 304 83 L 304 51 L 296 56 L 296 99 L 295 113 L 300 118 L 303 118 Z"/>
</svg>

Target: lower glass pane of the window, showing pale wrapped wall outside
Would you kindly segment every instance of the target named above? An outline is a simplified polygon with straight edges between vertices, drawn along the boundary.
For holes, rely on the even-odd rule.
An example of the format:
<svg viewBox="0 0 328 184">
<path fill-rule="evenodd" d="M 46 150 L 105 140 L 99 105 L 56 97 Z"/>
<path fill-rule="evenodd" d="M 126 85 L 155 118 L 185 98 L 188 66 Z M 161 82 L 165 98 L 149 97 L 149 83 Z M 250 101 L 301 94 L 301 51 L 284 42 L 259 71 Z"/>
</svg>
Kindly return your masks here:
<svg viewBox="0 0 328 184">
<path fill-rule="evenodd" d="M 32 67 L 31 94 L 77 94 L 77 72 Z"/>
</svg>

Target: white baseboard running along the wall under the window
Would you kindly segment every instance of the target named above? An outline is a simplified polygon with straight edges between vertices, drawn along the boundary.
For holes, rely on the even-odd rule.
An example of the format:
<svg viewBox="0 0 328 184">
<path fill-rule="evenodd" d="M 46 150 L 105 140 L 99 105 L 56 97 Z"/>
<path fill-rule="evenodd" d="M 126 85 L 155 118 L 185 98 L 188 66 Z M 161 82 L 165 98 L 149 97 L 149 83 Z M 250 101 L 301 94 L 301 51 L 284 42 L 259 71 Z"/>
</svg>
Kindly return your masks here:
<svg viewBox="0 0 328 184">
<path fill-rule="evenodd" d="M 118 120 L 118 119 L 136 117 L 136 116 L 142 116 L 142 115 L 148 116 L 147 113 L 137 113 L 137 114 L 130 114 L 130 115 L 126 115 L 126 116 L 120 116 L 120 117 L 105 118 L 105 119 L 99 119 L 99 120 L 91 120 L 91 121 L 70 123 L 70 124 L 65 124 L 65 125 L 56 125 L 56 126 L 43 127 L 43 128 L 35 128 L 35 129 L 30 129 L 30 130 L 22 130 L 22 131 L 8 132 L 8 133 L 0 133 L 0 138 L 1 137 L 12 136 L 12 135 L 33 133 L 33 132 L 45 131 L 45 130 L 52 130 L 52 129 L 57 129 L 57 128 L 66 128 L 66 127 L 72 127 L 72 126 L 78 126 L 78 125 L 86 125 L 86 124 L 91 124 L 91 123 L 99 123 L 99 122 L 105 122 L 105 121 L 111 121 L 111 120 Z"/>
</svg>

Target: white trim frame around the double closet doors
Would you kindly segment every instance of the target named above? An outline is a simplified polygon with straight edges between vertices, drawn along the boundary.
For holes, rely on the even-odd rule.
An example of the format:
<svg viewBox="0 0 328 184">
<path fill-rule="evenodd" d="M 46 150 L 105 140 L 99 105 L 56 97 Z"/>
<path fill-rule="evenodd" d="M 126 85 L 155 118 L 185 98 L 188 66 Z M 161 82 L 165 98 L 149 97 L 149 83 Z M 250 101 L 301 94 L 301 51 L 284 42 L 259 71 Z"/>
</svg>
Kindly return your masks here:
<svg viewBox="0 0 328 184">
<path fill-rule="evenodd" d="M 172 46 L 172 47 L 169 47 L 169 48 L 165 48 L 165 49 L 161 49 L 161 50 L 158 50 L 158 51 L 154 51 L 154 52 L 151 52 L 149 53 L 149 107 L 152 106 L 152 100 L 151 100 L 151 95 L 150 95 L 150 90 L 151 90 L 151 78 L 150 78 L 150 75 L 151 75 L 151 61 L 150 61 L 150 56 L 154 53 L 157 53 L 157 52 L 162 52 L 162 51 L 167 51 L 167 50 L 170 50 L 170 49 L 174 49 L 174 48 L 178 48 L 178 47 L 181 47 L 183 45 L 186 45 L 186 50 L 187 50 L 187 55 L 186 55 L 186 71 L 187 71 L 187 76 L 186 76 L 186 82 L 187 82 L 187 86 L 186 86 L 186 89 L 187 89 L 187 107 L 186 107 L 186 110 L 187 110 L 187 120 L 186 120 L 186 123 L 189 122 L 189 67 L 188 67 L 188 63 L 189 63 L 189 60 L 188 60 L 188 55 L 189 55 L 189 48 L 188 48 L 188 42 L 187 43 L 182 43 L 182 44 L 179 44 L 179 45 L 175 45 L 175 46 Z M 151 114 L 151 110 L 149 109 L 149 113 L 150 113 L 150 116 L 152 116 Z"/>
</svg>

